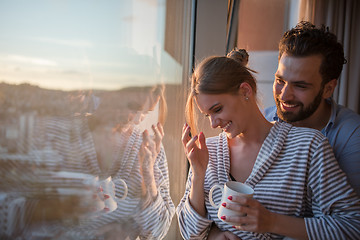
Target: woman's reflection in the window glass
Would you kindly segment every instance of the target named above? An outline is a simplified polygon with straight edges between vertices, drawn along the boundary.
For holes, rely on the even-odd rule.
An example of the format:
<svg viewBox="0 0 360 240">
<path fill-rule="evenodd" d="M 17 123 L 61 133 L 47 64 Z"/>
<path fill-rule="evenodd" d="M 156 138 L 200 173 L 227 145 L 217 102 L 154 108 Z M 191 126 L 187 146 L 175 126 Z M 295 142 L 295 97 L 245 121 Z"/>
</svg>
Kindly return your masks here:
<svg viewBox="0 0 360 240">
<path fill-rule="evenodd" d="M 153 126 L 151 133 L 154 137 L 148 130 L 143 132 L 138 127 L 157 103 L 160 106 L 165 104 L 162 94 L 162 87 L 148 88 L 140 96 L 129 96 L 132 103 L 127 104 L 124 99 L 120 101 L 119 92 L 106 93 L 101 96 L 100 104 L 97 98 L 91 97 L 96 100 L 96 104 L 90 104 L 91 108 L 96 108 L 94 114 L 37 119 L 37 135 L 31 146 L 48 149 L 47 161 L 58 160 L 55 163 L 44 162 L 41 171 L 81 172 L 100 178 L 111 176 L 118 197 L 117 209 L 110 213 L 94 213 L 94 206 L 82 205 L 81 197 L 60 205 L 61 202 L 54 199 L 27 201 L 21 192 L 16 192 L 8 195 L 6 201 L 0 199 L 10 206 L 14 205 L 11 204 L 15 202 L 13 199 L 19 199 L 14 211 L 6 211 L 0 217 L 0 226 L 13 227 L 4 233 L 5 236 L 163 238 L 170 227 L 175 207 L 170 197 L 167 160 L 161 144 L 164 135 L 162 124 Z M 127 108 L 135 105 L 133 109 Z M 122 201 L 119 199 L 124 194 L 124 185 L 119 184 L 119 179 L 128 186 L 127 198 Z M 78 217 L 77 222 L 68 224 L 69 219 Z M 14 224 L 26 221 L 30 227 L 14 227 L 14 224 L 8 224 L 9 220 Z"/>
</svg>

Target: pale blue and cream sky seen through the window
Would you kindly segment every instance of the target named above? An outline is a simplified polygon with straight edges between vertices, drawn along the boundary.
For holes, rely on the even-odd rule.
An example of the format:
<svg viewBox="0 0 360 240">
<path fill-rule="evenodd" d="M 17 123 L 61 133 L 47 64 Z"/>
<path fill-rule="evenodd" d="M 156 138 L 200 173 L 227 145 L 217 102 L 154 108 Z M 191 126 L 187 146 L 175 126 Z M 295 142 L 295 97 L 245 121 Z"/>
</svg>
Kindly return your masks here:
<svg viewBox="0 0 360 240">
<path fill-rule="evenodd" d="M 149 85 L 177 69 L 165 0 L 1 0 L 0 82 L 44 88 Z"/>
</svg>

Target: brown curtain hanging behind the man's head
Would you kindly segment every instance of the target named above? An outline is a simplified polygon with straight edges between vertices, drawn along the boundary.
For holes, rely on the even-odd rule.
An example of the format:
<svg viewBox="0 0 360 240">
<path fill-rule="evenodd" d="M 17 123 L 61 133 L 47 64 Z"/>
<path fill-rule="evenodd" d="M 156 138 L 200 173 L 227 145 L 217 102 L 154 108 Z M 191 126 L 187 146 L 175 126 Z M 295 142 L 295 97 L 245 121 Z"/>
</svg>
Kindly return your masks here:
<svg viewBox="0 0 360 240">
<path fill-rule="evenodd" d="M 299 20 L 324 24 L 344 46 L 347 64 L 338 81 L 334 99 L 360 113 L 360 3 L 358 0 L 303 0 Z"/>
</svg>

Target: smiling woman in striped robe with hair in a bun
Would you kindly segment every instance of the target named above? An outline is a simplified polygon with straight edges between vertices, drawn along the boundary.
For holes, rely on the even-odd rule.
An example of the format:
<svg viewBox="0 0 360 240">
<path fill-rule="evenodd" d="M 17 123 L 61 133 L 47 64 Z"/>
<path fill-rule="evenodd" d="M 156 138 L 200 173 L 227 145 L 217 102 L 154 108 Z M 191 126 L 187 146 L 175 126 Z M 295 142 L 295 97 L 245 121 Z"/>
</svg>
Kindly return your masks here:
<svg viewBox="0 0 360 240">
<path fill-rule="evenodd" d="M 320 132 L 270 123 L 256 103 L 256 82 L 247 53 L 210 57 L 196 68 L 187 101 L 182 142 L 191 168 L 177 207 L 185 239 L 358 239 L 360 200 Z M 244 60 L 245 59 L 245 60 Z M 223 132 L 196 134 L 194 104 Z M 190 133 L 194 137 L 190 137 Z M 253 199 L 232 197 L 221 216 L 209 202 L 214 184 L 236 180 L 254 189 Z M 214 194 L 220 202 L 221 194 Z"/>
</svg>

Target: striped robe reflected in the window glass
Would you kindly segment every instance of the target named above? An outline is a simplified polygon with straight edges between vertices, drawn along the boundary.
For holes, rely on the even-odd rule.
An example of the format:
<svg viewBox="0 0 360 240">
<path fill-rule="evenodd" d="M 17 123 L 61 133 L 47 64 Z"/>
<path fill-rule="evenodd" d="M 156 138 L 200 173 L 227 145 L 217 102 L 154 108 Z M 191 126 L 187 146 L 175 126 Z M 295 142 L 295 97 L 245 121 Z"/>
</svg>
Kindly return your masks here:
<svg viewBox="0 0 360 240">
<path fill-rule="evenodd" d="M 38 118 L 34 124 L 34 132 L 36 134 L 29 141 L 29 148 L 51 150 L 46 159 L 39 154 L 35 154 L 33 157 L 29 155 L 29 158 L 33 158 L 34 162 L 39 162 L 42 168 L 45 167 L 48 171 L 81 172 L 94 176 L 101 174 L 94 143 L 85 118 Z M 121 236 L 121 239 L 164 238 L 175 214 L 175 206 L 170 197 L 168 164 L 164 148 L 161 146 L 161 151 L 154 164 L 154 177 L 158 189 L 157 198 L 149 201 L 141 195 L 142 176 L 139 170 L 138 152 L 142 143 L 142 132 L 135 126 L 133 131 L 119 134 L 117 140 L 114 152 L 115 161 L 109 172 L 115 183 L 118 205 L 115 211 L 96 217 L 82 218 L 78 223 L 70 225 L 69 223 L 43 222 L 39 226 L 25 230 L 18 229 L 18 232 L 15 232 L 15 228 L 14 231 L 6 229 L 0 232 L 0 238 L 3 236 L 36 239 L 37 236 L 39 238 L 47 236 L 51 239 L 89 240 L 103 239 L 105 236 L 111 235 L 112 230 Z M 54 159 L 57 162 L 54 162 Z M 122 184 L 116 184 L 119 178 L 123 179 L 128 186 L 128 194 L 124 200 L 120 200 L 124 193 L 124 187 Z M 24 192 L 7 193 L 4 197 L 0 195 L 0 203 L 11 205 L 14 200 L 23 199 L 22 193 Z M 29 206 L 29 204 L 19 205 L 17 211 L 31 212 Z M 2 213 L 2 209 L 5 211 L 8 208 L 5 206 L 0 208 L 0 213 Z M 6 228 L 10 217 L 14 218 L 14 213 L 4 212 L 0 216 L 0 229 Z M 11 221 L 16 223 L 22 219 Z M 108 232 L 103 235 L 99 234 L 105 228 Z M 123 229 L 121 234 L 117 232 L 120 228 Z"/>
</svg>

